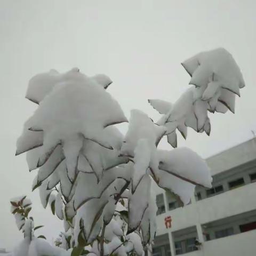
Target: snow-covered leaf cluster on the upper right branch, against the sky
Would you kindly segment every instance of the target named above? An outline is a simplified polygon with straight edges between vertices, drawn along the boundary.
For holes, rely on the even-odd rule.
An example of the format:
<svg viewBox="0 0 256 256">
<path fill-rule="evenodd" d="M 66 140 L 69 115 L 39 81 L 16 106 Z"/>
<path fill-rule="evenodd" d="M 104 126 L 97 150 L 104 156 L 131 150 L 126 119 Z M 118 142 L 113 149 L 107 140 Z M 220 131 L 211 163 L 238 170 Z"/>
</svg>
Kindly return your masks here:
<svg viewBox="0 0 256 256">
<path fill-rule="evenodd" d="M 149 100 L 162 118 L 157 122 L 167 128 L 167 140 L 177 147 L 176 130 L 186 139 L 187 127 L 210 135 L 211 123 L 207 112 L 235 113 L 235 95 L 245 86 L 242 73 L 232 55 L 223 48 L 201 52 L 182 62 L 194 85 L 173 104 Z"/>
</svg>

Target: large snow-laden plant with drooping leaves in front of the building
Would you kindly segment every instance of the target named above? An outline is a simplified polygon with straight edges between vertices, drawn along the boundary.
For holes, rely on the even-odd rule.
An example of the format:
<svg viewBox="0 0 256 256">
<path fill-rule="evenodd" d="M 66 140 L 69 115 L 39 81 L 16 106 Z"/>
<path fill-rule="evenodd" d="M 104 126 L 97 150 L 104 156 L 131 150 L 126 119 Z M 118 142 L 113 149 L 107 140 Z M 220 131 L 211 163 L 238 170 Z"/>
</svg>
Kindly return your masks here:
<svg viewBox="0 0 256 256">
<path fill-rule="evenodd" d="M 73 68 L 31 78 L 26 98 L 38 108 L 23 127 L 16 154 L 27 152 L 29 171 L 38 169 L 33 189 L 39 187 L 43 206 L 63 220 L 61 245 L 73 248 L 73 255 L 143 255 L 156 233 L 152 183 L 184 204 L 196 185 L 211 187 L 210 170 L 194 151 L 157 146 L 166 136 L 176 148 L 177 130 L 186 139 L 187 127 L 210 135 L 208 113 L 234 113 L 244 81 L 222 48 L 182 66 L 191 76 L 190 88 L 173 104 L 148 100 L 162 115 L 156 123 L 132 110 L 125 135 L 116 124 L 128 121 L 106 90 L 108 76 L 89 77 Z M 121 205 L 127 210 L 118 211 Z"/>
</svg>

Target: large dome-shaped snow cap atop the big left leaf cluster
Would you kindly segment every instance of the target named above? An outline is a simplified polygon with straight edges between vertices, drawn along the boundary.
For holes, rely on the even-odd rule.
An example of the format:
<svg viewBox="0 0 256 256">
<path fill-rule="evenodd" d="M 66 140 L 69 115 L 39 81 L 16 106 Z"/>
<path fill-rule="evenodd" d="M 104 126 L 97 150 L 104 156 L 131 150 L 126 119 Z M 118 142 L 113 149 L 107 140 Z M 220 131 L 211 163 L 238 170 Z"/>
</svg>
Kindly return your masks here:
<svg viewBox="0 0 256 256">
<path fill-rule="evenodd" d="M 45 140 L 65 141 L 80 133 L 110 147 L 101 137 L 103 128 L 126 121 L 108 92 L 89 77 L 73 72 L 72 79 L 55 86 L 44 98 L 29 124 L 45 132 L 44 144 Z"/>
</svg>

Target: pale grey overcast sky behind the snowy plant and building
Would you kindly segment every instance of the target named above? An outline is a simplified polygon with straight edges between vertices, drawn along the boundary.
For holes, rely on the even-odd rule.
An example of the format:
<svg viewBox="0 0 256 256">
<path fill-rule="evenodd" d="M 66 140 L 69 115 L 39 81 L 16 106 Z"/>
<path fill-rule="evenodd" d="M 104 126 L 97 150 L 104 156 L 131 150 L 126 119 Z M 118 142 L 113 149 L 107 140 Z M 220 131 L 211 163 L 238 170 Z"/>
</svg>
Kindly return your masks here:
<svg viewBox="0 0 256 256">
<path fill-rule="evenodd" d="M 38 235 L 51 240 L 62 228 L 39 203 L 38 191 L 30 192 L 35 173 L 28 172 L 25 155 L 14 157 L 23 122 L 36 107 L 24 98 L 31 76 L 72 67 L 106 73 L 127 117 L 139 108 L 157 119 L 147 99 L 174 102 L 188 87 L 180 62 L 223 46 L 246 82 L 236 114 L 211 115 L 211 137 L 190 130 L 187 141 L 179 138 L 180 146 L 207 157 L 256 130 L 255 10 L 255 0 L 0 0 L 0 247 L 11 249 L 22 239 L 9 212 L 13 196 L 33 199 L 35 224 L 46 225 Z"/>
</svg>

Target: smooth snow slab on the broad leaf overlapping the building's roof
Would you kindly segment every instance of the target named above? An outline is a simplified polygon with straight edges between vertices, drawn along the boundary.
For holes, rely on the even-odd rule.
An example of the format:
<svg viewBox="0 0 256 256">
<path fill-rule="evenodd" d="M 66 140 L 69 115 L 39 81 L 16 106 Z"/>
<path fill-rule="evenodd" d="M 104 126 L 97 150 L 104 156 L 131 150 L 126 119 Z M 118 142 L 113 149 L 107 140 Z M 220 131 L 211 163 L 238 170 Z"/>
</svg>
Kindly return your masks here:
<svg viewBox="0 0 256 256">
<path fill-rule="evenodd" d="M 158 150 L 159 169 L 177 177 L 211 187 L 212 177 L 206 162 L 189 148 L 176 148 L 171 151 Z"/>
</svg>

